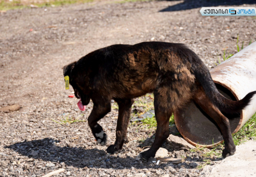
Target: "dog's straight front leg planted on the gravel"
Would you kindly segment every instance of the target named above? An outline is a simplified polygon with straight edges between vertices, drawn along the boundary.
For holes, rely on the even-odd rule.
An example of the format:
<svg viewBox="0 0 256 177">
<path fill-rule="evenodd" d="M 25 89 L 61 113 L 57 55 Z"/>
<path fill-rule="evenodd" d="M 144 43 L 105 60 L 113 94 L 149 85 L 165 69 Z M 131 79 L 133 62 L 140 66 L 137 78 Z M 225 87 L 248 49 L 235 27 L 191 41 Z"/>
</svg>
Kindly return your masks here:
<svg viewBox="0 0 256 177">
<path fill-rule="evenodd" d="M 115 144 L 110 145 L 107 149 L 108 153 L 114 153 L 122 149 L 124 142 L 127 141 L 127 127 L 131 115 L 131 105 L 133 99 L 114 99 L 118 103 L 118 120 L 116 126 Z"/>
</svg>

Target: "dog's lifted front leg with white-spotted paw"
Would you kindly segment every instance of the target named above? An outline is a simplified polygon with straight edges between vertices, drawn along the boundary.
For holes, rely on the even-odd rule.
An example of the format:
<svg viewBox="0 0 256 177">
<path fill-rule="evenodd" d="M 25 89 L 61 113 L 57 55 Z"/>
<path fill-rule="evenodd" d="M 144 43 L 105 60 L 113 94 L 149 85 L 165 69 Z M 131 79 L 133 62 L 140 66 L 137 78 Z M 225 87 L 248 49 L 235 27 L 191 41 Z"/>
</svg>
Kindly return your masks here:
<svg viewBox="0 0 256 177">
<path fill-rule="evenodd" d="M 111 101 L 94 101 L 92 112 L 88 117 L 88 123 L 92 130 L 92 134 L 101 145 L 105 145 L 107 135 L 104 133 L 102 126 L 97 122 L 111 111 Z"/>
</svg>

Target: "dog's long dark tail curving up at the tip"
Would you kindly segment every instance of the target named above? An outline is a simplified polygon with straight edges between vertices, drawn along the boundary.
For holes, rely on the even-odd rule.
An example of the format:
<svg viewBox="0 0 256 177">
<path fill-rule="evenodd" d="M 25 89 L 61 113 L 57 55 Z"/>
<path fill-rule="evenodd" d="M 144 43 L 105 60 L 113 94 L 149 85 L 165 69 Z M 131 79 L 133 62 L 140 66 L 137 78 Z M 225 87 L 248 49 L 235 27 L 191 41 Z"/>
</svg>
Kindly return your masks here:
<svg viewBox="0 0 256 177">
<path fill-rule="evenodd" d="M 222 114 L 237 115 L 240 114 L 247 105 L 249 105 L 253 95 L 256 94 L 256 91 L 248 93 L 243 99 L 239 101 L 232 101 L 224 97 L 217 90 L 217 87 L 213 82 L 212 77 L 210 76 L 210 71 L 208 70 L 207 66 L 204 65 L 203 61 L 200 60 L 197 54 L 191 50 L 186 50 L 186 53 L 188 54 L 186 57 L 189 57 L 196 79 L 200 82 L 200 85 L 202 85 L 207 97 L 214 105 L 220 109 Z"/>
</svg>

